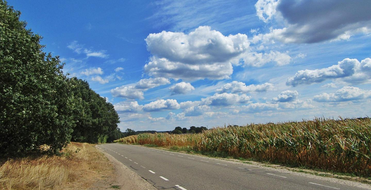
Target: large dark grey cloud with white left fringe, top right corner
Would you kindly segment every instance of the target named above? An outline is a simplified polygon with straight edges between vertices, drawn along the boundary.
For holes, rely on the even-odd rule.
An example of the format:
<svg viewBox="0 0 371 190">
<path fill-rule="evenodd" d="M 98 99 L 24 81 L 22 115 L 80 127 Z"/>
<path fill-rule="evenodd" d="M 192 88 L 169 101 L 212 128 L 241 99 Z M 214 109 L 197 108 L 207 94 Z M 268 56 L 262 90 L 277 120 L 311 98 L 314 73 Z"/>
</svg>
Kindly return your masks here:
<svg viewBox="0 0 371 190">
<path fill-rule="evenodd" d="M 273 17 L 283 19 L 284 28 L 259 34 L 255 40 L 277 39 L 284 43 L 316 43 L 346 40 L 357 33 L 371 33 L 369 0 L 258 0 L 256 13 L 267 22 Z M 280 19 L 278 19 L 280 20 Z"/>
</svg>

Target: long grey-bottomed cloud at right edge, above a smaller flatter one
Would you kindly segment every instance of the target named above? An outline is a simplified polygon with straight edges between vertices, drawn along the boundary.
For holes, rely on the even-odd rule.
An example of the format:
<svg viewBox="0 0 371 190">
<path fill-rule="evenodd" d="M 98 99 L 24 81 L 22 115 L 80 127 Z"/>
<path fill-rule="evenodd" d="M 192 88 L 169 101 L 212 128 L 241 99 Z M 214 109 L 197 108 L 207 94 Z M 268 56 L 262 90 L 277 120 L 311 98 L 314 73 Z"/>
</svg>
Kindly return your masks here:
<svg viewBox="0 0 371 190">
<path fill-rule="evenodd" d="M 294 77 L 288 78 L 286 85 L 312 84 L 336 78 L 342 78 L 343 81 L 354 84 L 367 82 L 371 79 L 370 65 L 370 58 L 366 58 L 361 62 L 357 59 L 345 58 L 339 61 L 337 65 L 332 65 L 328 68 L 298 71 Z"/>
</svg>

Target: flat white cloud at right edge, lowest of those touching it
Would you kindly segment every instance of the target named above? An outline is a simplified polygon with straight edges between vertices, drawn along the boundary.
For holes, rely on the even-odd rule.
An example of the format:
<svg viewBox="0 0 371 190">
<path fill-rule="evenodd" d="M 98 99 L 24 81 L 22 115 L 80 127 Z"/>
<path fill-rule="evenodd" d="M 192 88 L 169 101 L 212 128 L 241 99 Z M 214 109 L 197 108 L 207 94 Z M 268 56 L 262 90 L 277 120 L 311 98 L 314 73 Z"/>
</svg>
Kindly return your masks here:
<svg viewBox="0 0 371 190">
<path fill-rule="evenodd" d="M 353 86 L 344 86 L 335 93 L 322 93 L 315 95 L 313 100 L 316 102 L 344 102 L 354 101 L 371 97 L 371 91 L 365 91 Z"/>
</svg>

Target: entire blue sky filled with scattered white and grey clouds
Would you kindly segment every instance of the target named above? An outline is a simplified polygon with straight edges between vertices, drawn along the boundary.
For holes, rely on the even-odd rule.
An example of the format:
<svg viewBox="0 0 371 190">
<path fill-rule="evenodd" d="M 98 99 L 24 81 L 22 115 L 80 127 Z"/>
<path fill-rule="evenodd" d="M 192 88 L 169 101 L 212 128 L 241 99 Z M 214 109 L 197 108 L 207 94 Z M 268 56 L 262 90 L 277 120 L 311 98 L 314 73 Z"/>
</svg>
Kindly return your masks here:
<svg viewBox="0 0 371 190">
<path fill-rule="evenodd" d="M 369 0 L 8 3 L 121 131 L 371 115 Z"/>
</svg>

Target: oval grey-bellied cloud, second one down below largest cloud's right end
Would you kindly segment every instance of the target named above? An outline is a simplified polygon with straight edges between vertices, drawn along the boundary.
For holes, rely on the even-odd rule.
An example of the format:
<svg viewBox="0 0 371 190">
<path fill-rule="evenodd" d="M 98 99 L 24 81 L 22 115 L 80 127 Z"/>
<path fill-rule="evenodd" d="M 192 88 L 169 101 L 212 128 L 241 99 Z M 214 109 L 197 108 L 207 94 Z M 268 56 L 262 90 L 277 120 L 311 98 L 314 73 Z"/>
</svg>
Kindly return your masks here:
<svg viewBox="0 0 371 190">
<path fill-rule="evenodd" d="M 207 98 L 201 98 L 201 104 L 210 106 L 230 106 L 236 104 L 247 104 L 250 103 L 251 96 L 246 94 L 214 94 Z"/>
</svg>

